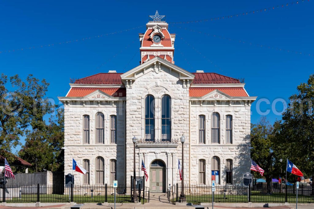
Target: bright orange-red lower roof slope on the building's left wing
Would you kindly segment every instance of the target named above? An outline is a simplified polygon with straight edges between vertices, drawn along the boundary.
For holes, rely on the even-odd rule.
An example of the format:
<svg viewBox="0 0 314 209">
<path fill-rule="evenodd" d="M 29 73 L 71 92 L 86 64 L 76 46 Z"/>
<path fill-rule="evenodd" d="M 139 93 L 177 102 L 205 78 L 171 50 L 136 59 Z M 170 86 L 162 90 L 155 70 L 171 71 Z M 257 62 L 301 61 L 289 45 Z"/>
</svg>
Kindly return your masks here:
<svg viewBox="0 0 314 209">
<path fill-rule="evenodd" d="M 90 93 L 100 90 L 106 94 L 109 94 L 112 97 L 125 97 L 126 89 L 125 88 L 92 88 L 92 87 L 73 87 L 68 93 L 67 97 L 84 97 Z"/>
</svg>

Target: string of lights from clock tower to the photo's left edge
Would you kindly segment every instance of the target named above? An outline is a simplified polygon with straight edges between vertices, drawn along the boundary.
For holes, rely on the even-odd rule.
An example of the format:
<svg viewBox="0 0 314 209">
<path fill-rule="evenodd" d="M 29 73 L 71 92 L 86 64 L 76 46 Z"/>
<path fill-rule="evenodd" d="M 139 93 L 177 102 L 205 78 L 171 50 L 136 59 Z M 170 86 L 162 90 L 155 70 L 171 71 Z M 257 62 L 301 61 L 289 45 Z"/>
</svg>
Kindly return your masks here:
<svg viewBox="0 0 314 209">
<path fill-rule="evenodd" d="M 116 32 L 108 33 L 108 34 L 100 34 L 100 35 L 90 36 L 90 37 L 86 37 L 86 38 L 82 38 L 82 39 L 73 39 L 73 40 L 69 40 L 69 41 L 61 41 L 61 42 L 57 42 L 57 43 L 54 43 L 54 44 L 44 44 L 44 45 L 25 47 L 25 48 L 14 49 L 14 50 L 4 50 L 4 51 L 0 51 L 0 54 L 8 53 L 8 52 L 15 52 L 15 51 L 29 50 L 29 49 L 36 49 L 36 48 L 43 48 L 43 47 L 50 47 L 50 46 L 56 46 L 56 45 L 61 45 L 61 44 L 75 43 L 75 42 L 84 41 L 84 40 L 90 40 L 90 39 L 95 39 L 95 38 L 101 38 L 101 37 L 108 36 L 108 35 L 119 34 L 119 33 L 122 33 L 122 32 L 129 31 L 129 30 L 142 28 L 144 26 L 145 25 L 134 27 L 134 28 L 130 28 L 130 29 L 124 29 L 124 30 L 120 30 L 120 31 L 116 31 Z"/>
</svg>

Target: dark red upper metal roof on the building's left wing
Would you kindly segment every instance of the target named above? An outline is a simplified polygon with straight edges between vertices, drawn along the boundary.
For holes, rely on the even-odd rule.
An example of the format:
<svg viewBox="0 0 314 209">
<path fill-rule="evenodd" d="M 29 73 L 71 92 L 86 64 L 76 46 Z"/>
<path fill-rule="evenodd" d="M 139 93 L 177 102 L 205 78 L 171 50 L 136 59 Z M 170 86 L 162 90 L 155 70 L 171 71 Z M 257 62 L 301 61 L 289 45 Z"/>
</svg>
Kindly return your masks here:
<svg viewBox="0 0 314 209">
<path fill-rule="evenodd" d="M 74 83 L 80 84 L 122 84 L 121 76 L 123 73 L 98 73 L 92 76 L 81 78 Z"/>
</svg>

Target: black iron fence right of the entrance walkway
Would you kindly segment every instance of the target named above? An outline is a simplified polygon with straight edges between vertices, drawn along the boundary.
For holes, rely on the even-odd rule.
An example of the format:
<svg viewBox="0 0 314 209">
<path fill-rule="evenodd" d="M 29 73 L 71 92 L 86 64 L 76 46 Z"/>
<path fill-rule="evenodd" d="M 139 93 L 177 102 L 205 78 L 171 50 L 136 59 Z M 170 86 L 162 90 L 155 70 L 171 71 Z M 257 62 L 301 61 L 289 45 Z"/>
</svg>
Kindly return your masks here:
<svg viewBox="0 0 314 209">
<path fill-rule="evenodd" d="M 179 201 L 181 184 L 176 185 L 176 197 L 173 201 Z M 216 185 L 214 193 L 211 185 L 184 185 L 186 202 L 199 204 L 201 202 L 296 202 L 295 186 L 239 186 Z M 298 202 L 314 203 L 311 186 L 300 185 L 298 189 Z"/>
</svg>

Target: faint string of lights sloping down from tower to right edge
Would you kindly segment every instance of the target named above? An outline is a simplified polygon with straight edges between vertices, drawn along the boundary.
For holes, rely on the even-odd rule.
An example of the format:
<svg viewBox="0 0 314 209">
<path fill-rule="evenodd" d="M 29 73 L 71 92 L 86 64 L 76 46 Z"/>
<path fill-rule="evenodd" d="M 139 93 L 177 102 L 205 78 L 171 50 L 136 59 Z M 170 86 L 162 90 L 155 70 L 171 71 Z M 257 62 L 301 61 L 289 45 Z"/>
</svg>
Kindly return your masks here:
<svg viewBox="0 0 314 209">
<path fill-rule="evenodd" d="M 224 40 L 228 40 L 228 41 L 234 41 L 234 42 L 237 42 L 237 43 L 240 43 L 240 44 L 248 44 L 250 46 L 257 46 L 257 47 L 261 47 L 261 48 L 272 49 L 272 50 L 277 50 L 277 51 L 282 51 L 282 52 L 289 52 L 289 53 L 298 54 L 298 55 L 314 56 L 314 53 L 311 54 L 311 53 L 304 53 L 304 52 L 301 52 L 301 51 L 287 50 L 287 49 L 283 49 L 283 48 L 280 48 L 280 47 L 268 46 L 268 45 L 265 45 L 265 44 L 255 44 L 255 43 L 252 43 L 252 42 L 249 42 L 249 41 L 230 39 L 230 38 L 227 38 L 227 37 L 224 37 L 224 36 L 208 34 L 208 33 L 205 33 L 203 31 L 196 31 L 196 30 L 193 30 L 193 29 L 187 29 L 187 28 L 182 28 L 182 27 L 178 27 L 178 28 L 185 29 L 185 30 L 188 30 L 188 31 L 191 31 L 191 32 L 195 32 L 195 33 L 199 33 L 199 34 L 204 34 L 204 35 L 211 36 L 211 37 L 214 37 L 214 38 L 224 39 Z"/>
</svg>

